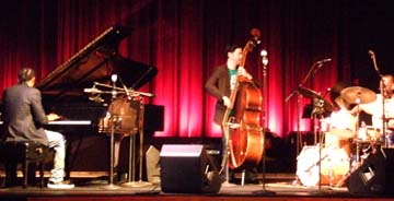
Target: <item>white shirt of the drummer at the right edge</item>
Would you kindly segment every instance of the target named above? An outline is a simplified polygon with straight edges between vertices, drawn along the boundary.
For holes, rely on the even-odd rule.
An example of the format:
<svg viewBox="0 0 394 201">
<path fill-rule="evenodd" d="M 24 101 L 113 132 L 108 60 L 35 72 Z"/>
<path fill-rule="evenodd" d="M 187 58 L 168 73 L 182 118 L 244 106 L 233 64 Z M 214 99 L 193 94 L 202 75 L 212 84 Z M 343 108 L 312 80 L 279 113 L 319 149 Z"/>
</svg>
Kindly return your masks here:
<svg viewBox="0 0 394 201">
<path fill-rule="evenodd" d="M 383 102 L 382 94 L 376 94 L 376 99 L 370 104 L 360 104 L 360 108 L 367 114 L 372 115 L 372 126 L 378 129 L 382 129 L 382 111 L 383 111 Z M 384 99 L 384 110 L 385 118 L 394 118 L 394 97 Z M 390 120 L 386 128 L 394 129 L 394 120 Z"/>
</svg>

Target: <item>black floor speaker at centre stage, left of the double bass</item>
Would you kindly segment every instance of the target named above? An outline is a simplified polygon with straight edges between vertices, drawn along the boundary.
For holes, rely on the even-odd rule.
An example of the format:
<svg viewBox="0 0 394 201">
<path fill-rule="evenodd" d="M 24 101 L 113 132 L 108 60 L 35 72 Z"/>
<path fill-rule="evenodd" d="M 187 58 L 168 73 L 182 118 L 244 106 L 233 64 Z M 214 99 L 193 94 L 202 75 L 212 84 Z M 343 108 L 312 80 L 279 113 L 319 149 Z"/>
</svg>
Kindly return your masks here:
<svg viewBox="0 0 394 201">
<path fill-rule="evenodd" d="M 160 152 L 163 192 L 217 193 L 221 181 L 202 145 L 164 144 Z"/>
</svg>

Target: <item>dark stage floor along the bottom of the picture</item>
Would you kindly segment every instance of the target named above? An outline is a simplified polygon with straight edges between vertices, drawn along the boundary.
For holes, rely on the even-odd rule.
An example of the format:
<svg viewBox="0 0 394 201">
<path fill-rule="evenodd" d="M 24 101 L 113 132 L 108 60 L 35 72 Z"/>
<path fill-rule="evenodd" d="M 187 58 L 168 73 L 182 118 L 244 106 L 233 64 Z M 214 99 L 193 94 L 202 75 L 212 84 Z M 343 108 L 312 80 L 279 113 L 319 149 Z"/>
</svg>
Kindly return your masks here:
<svg viewBox="0 0 394 201">
<path fill-rule="evenodd" d="M 160 185 L 147 187 L 119 187 L 108 189 L 107 180 L 76 180 L 76 188 L 54 190 L 39 187 L 12 187 L 0 189 L 0 200 L 393 200 L 394 197 L 375 193 L 350 193 L 346 187 L 304 187 L 294 185 L 291 174 L 267 175 L 267 182 L 236 184 L 231 187 L 222 185 L 218 193 L 164 193 Z M 277 179 L 276 179 L 277 178 Z M 266 193 L 266 191 L 274 193 Z"/>
</svg>

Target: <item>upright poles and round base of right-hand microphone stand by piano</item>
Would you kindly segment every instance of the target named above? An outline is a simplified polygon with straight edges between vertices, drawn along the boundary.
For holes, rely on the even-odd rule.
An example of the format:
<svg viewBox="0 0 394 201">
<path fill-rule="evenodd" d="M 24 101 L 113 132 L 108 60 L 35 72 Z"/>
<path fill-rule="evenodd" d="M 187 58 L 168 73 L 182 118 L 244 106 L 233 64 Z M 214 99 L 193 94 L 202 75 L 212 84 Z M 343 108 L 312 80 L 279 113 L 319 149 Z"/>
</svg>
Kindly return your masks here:
<svg viewBox="0 0 394 201">
<path fill-rule="evenodd" d="M 141 96 L 141 94 L 139 94 L 139 96 L 137 96 L 139 98 L 139 115 L 138 115 L 138 130 L 139 130 L 139 137 L 140 137 L 140 146 L 139 146 L 139 180 L 135 181 L 134 176 L 135 176 L 135 157 L 132 157 L 134 151 L 135 151 L 135 138 L 136 134 L 130 134 L 130 144 L 129 144 L 129 173 L 128 173 L 128 178 L 127 178 L 127 182 L 121 184 L 123 187 L 147 187 L 147 186 L 151 186 L 152 184 L 143 181 L 142 180 L 142 157 L 143 157 L 143 113 L 144 113 L 144 104 L 143 104 L 143 98 Z M 131 154 L 132 151 L 132 154 Z M 132 167 L 132 168 L 131 168 Z M 131 179 L 132 178 L 132 179 Z"/>
</svg>

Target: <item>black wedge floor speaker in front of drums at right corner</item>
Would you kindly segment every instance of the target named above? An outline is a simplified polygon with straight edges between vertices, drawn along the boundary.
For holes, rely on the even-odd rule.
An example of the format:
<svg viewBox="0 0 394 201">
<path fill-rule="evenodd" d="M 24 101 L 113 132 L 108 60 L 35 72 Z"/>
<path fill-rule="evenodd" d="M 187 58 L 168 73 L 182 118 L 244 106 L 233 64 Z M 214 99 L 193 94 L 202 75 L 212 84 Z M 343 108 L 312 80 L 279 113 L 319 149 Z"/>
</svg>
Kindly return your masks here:
<svg viewBox="0 0 394 201">
<path fill-rule="evenodd" d="M 394 193 L 394 150 L 378 149 L 346 180 L 350 193 Z"/>
</svg>

